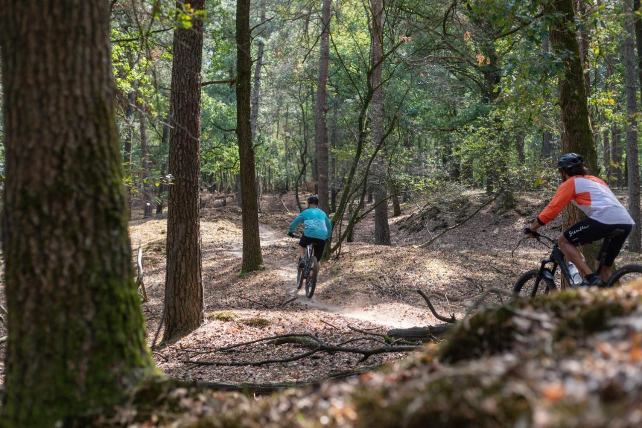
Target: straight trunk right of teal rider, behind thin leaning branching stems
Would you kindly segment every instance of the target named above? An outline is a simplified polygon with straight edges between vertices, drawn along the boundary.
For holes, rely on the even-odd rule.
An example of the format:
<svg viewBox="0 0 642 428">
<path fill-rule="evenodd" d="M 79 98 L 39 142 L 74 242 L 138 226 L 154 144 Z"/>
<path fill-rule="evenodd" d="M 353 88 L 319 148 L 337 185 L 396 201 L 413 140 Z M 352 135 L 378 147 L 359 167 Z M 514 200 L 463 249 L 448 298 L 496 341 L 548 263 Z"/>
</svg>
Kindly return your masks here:
<svg viewBox="0 0 642 428">
<path fill-rule="evenodd" d="M 383 6 L 381 0 L 372 0 L 372 143 L 383 143 L 383 91 L 381 91 L 381 61 L 383 60 Z M 377 165 L 379 177 L 373 181 L 374 203 L 374 243 L 390 245 L 390 226 L 388 226 L 388 195 L 383 183 L 383 160 Z"/>
</svg>

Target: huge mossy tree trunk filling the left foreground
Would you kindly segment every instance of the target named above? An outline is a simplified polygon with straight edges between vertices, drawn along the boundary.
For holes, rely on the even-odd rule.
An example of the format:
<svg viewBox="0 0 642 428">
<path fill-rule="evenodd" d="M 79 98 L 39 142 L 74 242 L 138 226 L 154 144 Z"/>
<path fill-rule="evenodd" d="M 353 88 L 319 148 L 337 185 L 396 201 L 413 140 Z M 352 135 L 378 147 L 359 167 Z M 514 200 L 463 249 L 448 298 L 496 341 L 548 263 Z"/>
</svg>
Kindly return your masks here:
<svg viewBox="0 0 642 428">
<path fill-rule="evenodd" d="M 44 12 L 0 2 L 12 427 L 110 408 L 154 370 L 127 235 L 109 5 L 49 1 Z"/>
</svg>

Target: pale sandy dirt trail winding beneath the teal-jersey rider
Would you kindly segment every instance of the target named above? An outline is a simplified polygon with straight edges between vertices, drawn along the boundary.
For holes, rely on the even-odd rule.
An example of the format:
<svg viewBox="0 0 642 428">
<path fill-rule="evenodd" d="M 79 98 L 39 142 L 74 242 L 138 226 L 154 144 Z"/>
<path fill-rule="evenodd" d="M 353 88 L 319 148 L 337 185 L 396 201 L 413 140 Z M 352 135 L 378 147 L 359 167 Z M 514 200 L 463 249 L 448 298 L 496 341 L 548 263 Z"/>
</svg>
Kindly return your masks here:
<svg viewBox="0 0 642 428">
<path fill-rule="evenodd" d="M 285 239 L 282 233 L 278 233 L 265 224 L 259 224 L 259 234 L 261 235 L 261 248 L 282 244 Z M 241 245 L 232 247 L 229 253 L 240 258 L 243 254 L 243 247 Z M 398 301 L 374 300 L 363 295 L 353 299 L 349 305 L 343 306 L 331 303 L 323 298 L 323 271 L 320 272 L 315 295 L 313 298 L 308 299 L 305 290 L 297 290 L 295 285 L 297 271 L 294 259 L 295 257 L 293 256 L 282 260 L 272 260 L 264 257 L 263 260 L 279 277 L 281 287 L 292 297 L 298 296 L 296 301 L 309 308 L 392 328 L 425 326 L 431 323 L 431 316 L 428 315 L 428 310 L 418 310 L 412 305 Z"/>
</svg>

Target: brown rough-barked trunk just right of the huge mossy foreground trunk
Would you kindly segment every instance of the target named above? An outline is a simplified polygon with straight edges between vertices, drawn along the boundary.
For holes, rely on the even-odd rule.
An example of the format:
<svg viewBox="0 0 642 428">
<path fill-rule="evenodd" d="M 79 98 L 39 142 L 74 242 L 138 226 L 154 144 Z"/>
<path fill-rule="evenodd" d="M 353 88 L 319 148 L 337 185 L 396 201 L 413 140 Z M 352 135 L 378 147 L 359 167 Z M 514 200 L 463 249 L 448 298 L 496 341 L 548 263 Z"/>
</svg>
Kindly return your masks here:
<svg viewBox="0 0 642 428">
<path fill-rule="evenodd" d="M 178 4 L 178 3 L 177 3 Z M 192 1 L 195 10 L 205 0 Z M 174 30 L 169 105 L 169 186 L 164 340 L 191 332 L 204 321 L 200 247 L 201 51 L 203 21 Z"/>
</svg>

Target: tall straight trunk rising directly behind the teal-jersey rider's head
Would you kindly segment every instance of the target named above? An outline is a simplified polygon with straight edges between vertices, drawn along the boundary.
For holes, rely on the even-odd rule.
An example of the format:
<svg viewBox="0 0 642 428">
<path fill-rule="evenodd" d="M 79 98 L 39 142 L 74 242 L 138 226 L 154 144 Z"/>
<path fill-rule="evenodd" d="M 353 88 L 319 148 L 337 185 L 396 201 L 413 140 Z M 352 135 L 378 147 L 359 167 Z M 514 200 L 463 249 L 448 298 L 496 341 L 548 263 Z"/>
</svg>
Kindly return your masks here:
<svg viewBox="0 0 642 428">
<path fill-rule="evenodd" d="M 330 0 L 321 6 L 321 40 L 319 46 L 319 71 L 317 78 L 317 102 L 315 105 L 315 141 L 317 145 L 317 184 L 319 208 L 329 213 L 328 203 L 328 151 L 327 120 L 325 109 L 327 69 L 330 55 Z"/>
</svg>

